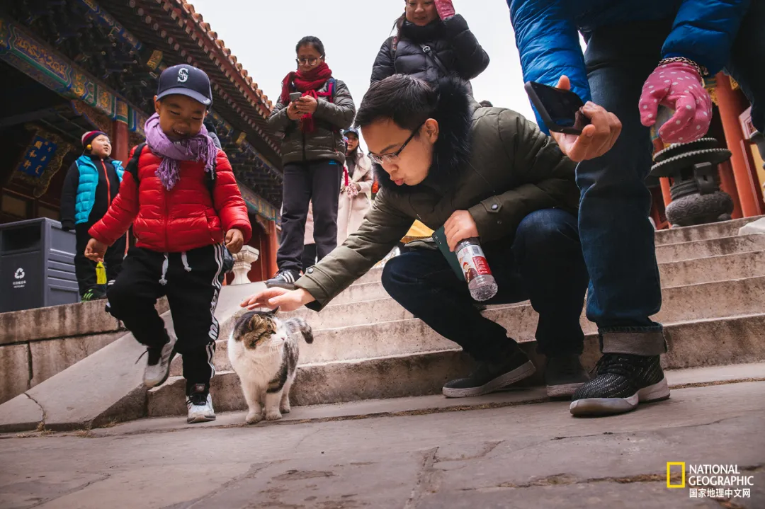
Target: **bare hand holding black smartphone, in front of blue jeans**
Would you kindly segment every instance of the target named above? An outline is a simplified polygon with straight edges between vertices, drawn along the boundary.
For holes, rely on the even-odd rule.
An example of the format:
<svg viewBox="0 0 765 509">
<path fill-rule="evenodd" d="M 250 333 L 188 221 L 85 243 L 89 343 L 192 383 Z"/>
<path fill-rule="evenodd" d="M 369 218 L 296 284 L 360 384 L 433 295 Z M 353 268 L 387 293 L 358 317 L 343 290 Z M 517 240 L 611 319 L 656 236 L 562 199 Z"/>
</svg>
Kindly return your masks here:
<svg viewBox="0 0 765 509">
<path fill-rule="evenodd" d="M 526 83 L 526 91 L 529 91 L 529 89 L 538 90 L 538 86 L 542 86 L 539 83 L 532 83 Z M 570 92 L 571 82 L 569 82 L 567 76 L 561 76 L 557 87 L 547 88 L 575 95 L 573 92 Z M 601 157 L 601 155 L 614 147 L 619 138 L 622 125 L 617 115 L 607 112 L 602 106 L 594 102 L 588 102 L 583 106 L 579 106 L 576 111 L 573 111 L 576 102 L 569 96 L 570 99 L 568 99 L 565 106 L 566 112 L 554 112 L 555 115 L 558 113 L 562 113 L 562 115 L 555 117 L 555 120 L 558 122 L 553 122 L 549 111 L 544 106 L 542 109 L 539 109 L 539 105 L 535 102 L 531 92 L 529 92 L 529 97 L 532 98 L 532 102 L 537 106 L 539 115 L 542 116 L 545 125 L 550 129 L 550 135 L 552 138 L 555 138 L 561 151 L 571 160 L 580 162 Z M 539 101 L 539 104 L 542 104 L 538 94 L 536 99 Z M 578 103 L 581 104 L 581 99 L 578 99 Z M 583 118 L 588 122 L 586 125 L 582 125 L 581 128 L 576 125 L 577 112 L 581 114 L 581 117 L 578 119 L 579 122 L 583 122 Z M 547 123 L 548 118 L 550 118 L 552 125 Z M 567 123 L 569 124 L 568 126 L 565 125 Z"/>
</svg>

